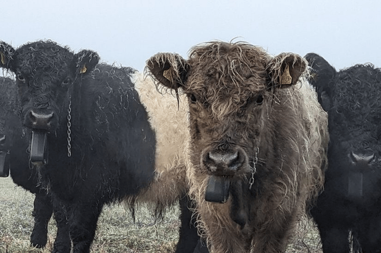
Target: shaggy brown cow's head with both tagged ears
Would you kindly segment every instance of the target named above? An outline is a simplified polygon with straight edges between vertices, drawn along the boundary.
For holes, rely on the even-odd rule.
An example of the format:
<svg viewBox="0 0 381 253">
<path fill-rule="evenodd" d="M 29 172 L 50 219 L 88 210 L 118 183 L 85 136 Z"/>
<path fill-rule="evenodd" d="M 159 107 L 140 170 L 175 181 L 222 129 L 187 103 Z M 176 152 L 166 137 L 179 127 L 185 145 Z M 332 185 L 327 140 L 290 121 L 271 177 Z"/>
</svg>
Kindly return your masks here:
<svg viewBox="0 0 381 253">
<path fill-rule="evenodd" d="M 147 67 L 188 98 L 196 170 L 239 178 L 253 166 L 275 90 L 294 85 L 306 64 L 292 54 L 272 58 L 251 45 L 210 43 L 195 47 L 188 61 L 158 54 Z"/>
</svg>

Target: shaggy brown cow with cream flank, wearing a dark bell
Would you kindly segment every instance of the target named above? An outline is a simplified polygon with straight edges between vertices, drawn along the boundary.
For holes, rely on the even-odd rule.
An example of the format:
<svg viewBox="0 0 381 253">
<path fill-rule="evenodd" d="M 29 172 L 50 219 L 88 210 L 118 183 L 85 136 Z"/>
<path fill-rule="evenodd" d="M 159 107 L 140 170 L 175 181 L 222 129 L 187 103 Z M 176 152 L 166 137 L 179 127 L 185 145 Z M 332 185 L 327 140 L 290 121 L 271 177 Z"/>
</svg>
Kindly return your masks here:
<svg viewBox="0 0 381 253">
<path fill-rule="evenodd" d="M 298 55 L 272 57 L 246 43 L 147 61 L 158 88 L 188 98 L 186 176 L 212 252 L 284 252 L 322 190 L 327 115 L 301 82 L 306 68 Z"/>
</svg>

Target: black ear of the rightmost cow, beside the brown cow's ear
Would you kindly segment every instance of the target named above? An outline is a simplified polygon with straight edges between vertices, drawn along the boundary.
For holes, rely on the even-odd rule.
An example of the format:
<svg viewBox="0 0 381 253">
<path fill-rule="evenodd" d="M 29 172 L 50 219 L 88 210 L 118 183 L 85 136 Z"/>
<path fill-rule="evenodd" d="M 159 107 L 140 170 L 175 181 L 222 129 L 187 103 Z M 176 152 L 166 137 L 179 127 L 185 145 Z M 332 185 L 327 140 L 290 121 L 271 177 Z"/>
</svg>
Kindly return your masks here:
<svg viewBox="0 0 381 253">
<path fill-rule="evenodd" d="M 318 93 L 319 103 L 325 111 L 328 111 L 331 105 L 332 82 L 336 70 L 323 57 L 315 53 L 309 53 L 304 58 L 306 58 L 310 67 L 309 82 Z"/>
</svg>

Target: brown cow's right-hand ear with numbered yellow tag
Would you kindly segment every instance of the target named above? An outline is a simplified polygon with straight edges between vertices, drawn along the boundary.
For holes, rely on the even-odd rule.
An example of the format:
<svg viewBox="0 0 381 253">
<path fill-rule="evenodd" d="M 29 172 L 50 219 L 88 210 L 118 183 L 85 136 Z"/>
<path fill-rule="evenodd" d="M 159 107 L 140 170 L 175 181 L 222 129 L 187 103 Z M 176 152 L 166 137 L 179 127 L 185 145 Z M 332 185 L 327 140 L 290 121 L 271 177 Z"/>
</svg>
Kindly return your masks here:
<svg viewBox="0 0 381 253">
<path fill-rule="evenodd" d="M 270 60 L 267 71 L 270 77 L 269 88 L 285 88 L 297 83 L 306 71 L 307 61 L 293 53 L 282 53 Z"/>
</svg>

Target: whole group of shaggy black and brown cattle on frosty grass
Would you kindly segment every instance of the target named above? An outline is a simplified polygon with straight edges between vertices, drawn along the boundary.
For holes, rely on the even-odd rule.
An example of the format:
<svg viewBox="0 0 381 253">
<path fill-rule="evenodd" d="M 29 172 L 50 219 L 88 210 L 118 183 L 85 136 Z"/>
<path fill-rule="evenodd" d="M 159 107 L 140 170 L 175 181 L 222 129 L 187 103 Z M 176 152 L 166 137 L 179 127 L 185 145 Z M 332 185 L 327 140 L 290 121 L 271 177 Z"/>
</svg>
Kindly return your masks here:
<svg viewBox="0 0 381 253">
<path fill-rule="evenodd" d="M 144 75 L 51 40 L 0 41 L 0 176 L 34 194 L 30 243 L 90 252 L 105 204 L 179 203 L 176 252 L 381 252 L 381 70 L 211 41 Z M 380 214 L 378 214 L 380 212 Z"/>
</svg>

